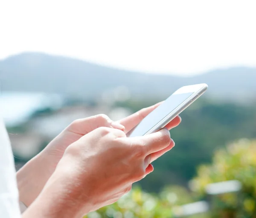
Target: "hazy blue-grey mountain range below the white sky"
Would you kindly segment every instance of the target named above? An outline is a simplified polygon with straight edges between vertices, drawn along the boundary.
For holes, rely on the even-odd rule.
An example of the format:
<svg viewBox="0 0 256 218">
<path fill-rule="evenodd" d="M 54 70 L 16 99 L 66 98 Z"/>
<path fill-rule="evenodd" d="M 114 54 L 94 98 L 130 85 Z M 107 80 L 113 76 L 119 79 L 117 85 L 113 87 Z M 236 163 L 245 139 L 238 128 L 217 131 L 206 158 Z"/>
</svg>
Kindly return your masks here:
<svg viewBox="0 0 256 218">
<path fill-rule="evenodd" d="M 183 85 L 207 83 L 207 95 L 224 100 L 256 99 L 256 68 L 228 68 L 193 77 L 145 74 L 42 53 L 0 60 L 2 91 L 29 91 L 95 98 L 126 86 L 133 97 L 163 97 Z"/>
</svg>

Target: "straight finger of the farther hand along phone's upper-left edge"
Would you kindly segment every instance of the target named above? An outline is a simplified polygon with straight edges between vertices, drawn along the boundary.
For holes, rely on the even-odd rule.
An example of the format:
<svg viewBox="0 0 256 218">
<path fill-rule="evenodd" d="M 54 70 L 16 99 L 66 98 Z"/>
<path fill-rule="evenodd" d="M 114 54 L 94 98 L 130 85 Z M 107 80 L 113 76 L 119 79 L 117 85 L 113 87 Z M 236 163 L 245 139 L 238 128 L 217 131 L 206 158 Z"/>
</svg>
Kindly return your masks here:
<svg viewBox="0 0 256 218">
<path fill-rule="evenodd" d="M 162 102 L 152 105 L 148 108 L 143 108 L 138 112 L 121 119 L 119 123 L 125 127 L 125 133 L 128 133 L 132 128 L 137 126 L 151 111 L 156 109 Z"/>
</svg>

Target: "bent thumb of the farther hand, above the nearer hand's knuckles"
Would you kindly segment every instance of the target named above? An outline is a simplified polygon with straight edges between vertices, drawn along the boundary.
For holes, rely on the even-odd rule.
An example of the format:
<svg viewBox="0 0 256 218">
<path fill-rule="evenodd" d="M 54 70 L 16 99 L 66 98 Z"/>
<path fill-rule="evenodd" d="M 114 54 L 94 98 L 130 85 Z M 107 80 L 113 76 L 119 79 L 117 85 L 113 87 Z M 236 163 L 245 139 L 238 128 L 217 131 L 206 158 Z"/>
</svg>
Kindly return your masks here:
<svg viewBox="0 0 256 218">
<path fill-rule="evenodd" d="M 123 125 L 119 124 L 118 122 L 112 121 L 105 114 L 77 119 L 70 126 L 67 127 L 67 130 L 84 136 L 99 127 L 110 127 L 114 129 L 125 130 L 125 127 Z"/>
</svg>

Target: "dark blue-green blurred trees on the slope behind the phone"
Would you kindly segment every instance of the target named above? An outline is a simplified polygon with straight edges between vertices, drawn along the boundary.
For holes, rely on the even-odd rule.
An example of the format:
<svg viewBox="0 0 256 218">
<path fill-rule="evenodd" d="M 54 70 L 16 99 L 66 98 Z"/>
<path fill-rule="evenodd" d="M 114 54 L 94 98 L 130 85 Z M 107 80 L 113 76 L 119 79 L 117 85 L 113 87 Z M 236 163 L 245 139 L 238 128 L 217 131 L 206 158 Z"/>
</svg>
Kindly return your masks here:
<svg viewBox="0 0 256 218">
<path fill-rule="evenodd" d="M 155 102 L 157 100 L 118 104 L 135 112 Z M 253 105 L 199 99 L 180 116 L 181 124 L 171 130 L 175 147 L 154 161 L 154 172 L 140 182 L 145 190 L 159 192 L 168 184 L 186 186 L 195 175 L 196 167 L 211 161 L 216 148 L 236 139 L 256 137 L 256 110 Z"/>
</svg>

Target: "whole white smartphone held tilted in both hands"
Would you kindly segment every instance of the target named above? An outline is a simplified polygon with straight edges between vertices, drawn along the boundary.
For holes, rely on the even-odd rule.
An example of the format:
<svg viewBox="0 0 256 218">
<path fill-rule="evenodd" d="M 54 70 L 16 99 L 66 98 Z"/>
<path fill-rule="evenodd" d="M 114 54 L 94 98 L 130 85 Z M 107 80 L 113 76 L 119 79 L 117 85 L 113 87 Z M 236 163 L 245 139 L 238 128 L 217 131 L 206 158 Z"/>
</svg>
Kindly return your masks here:
<svg viewBox="0 0 256 218">
<path fill-rule="evenodd" d="M 195 102 L 207 88 L 208 85 L 205 83 L 187 85 L 179 88 L 134 127 L 134 129 L 127 134 L 128 137 L 144 136 L 159 131 L 189 105 Z"/>
</svg>

